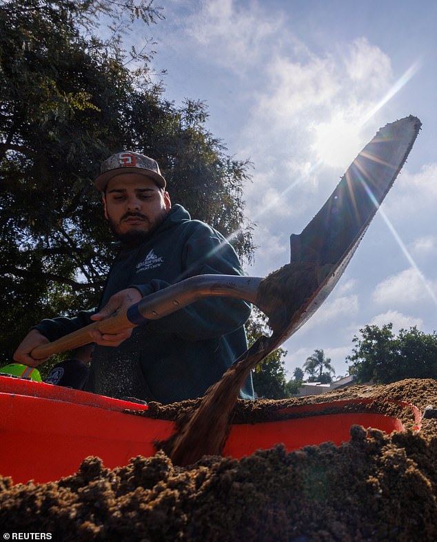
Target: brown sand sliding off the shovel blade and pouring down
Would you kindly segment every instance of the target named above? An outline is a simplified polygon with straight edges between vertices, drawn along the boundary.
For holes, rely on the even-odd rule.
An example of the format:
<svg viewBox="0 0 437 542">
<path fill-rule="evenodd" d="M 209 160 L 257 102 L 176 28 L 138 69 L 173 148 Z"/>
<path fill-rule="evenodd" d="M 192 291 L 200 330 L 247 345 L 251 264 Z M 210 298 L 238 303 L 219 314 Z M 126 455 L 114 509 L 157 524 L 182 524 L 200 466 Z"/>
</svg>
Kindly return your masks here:
<svg viewBox="0 0 437 542">
<path fill-rule="evenodd" d="M 205 454 L 221 454 L 230 429 L 231 412 L 243 383 L 256 365 L 281 343 L 287 328 L 305 313 L 331 269 L 332 265 L 319 268 L 316 263 L 292 262 L 261 281 L 256 305 L 269 317 L 273 333 L 270 337 L 259 337 L 223 377 L 207 389 L 199 408 L 179 425 L 177 433 L 165 444 L 173 463 L 189 465 Z"/>
</svg>

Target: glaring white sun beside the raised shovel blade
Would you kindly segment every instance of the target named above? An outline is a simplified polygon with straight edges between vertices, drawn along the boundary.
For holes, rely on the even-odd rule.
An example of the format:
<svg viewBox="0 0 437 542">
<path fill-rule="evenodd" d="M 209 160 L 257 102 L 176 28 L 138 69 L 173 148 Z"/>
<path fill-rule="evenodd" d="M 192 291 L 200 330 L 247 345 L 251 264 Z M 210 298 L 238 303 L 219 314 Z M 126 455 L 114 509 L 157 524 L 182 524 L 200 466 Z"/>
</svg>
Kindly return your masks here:
<svg viewBox="0 0 437 542">
<path fill-rule="evenodd" d="M 314 143 L 318 161 L 334 168 L 344 169 L 352 163 L 361 148 L 360 125 L 345 119 L 340 112 L 329 122 L 318 123 L 313 128 Z"/>
</svg>

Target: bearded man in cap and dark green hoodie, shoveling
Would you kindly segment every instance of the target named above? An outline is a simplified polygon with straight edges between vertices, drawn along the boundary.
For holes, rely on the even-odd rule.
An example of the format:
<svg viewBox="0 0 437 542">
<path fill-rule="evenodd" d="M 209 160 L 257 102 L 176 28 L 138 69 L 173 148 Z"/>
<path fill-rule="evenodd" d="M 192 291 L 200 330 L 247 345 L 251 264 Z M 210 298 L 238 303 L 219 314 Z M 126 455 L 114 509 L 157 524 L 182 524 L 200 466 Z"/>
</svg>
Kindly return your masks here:
<svg viewBox="0 0 437 542">
<path fill-rule="evenodd" d="M 76 318 L 43 320 L 23 339 L 14 359 L 38 365 L 34 348 L 125 310 L 145 295 L 198 274 L 243 274 L 227 241 L 207 224 L 192 220 L 170 201 L 159 165 L 136 152 L 105 160 L 94 184 L 103 194 L 105 217 L 119 239 L 97 310 Z M 101 334 L 85 390 L 110 397 L 172 403 L 201 397 L 247 348 L 244 323 L 250 305 L 231 298 L 196 301 L 133 330 Z M 241 390 L 253 398 L 249 379 Z"/>
</svg>

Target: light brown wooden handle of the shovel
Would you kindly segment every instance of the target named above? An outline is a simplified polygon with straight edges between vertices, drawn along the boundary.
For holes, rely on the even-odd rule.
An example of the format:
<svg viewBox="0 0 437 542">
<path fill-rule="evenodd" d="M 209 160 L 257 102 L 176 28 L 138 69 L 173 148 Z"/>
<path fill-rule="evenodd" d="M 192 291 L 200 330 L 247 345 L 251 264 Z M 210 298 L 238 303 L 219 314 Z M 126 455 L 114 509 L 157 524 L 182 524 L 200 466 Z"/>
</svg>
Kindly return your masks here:
<svg viewBox="0 0 437 542">
<path fill-rule="evenodd" d="M 90 330 L 99 330 L 101 333 L 119 333 L 134 327 L 135 324 L 128 320 L 126 312 L 120 312 L 105 320 L 85 325 L 85 328 L 65 335 L 52 343 L 37 346 L 37 348 L 32 350 L 30 355 L 34 359 L 45 359 L 53 354 L 58 354 L 59 352 L 65 352 L 65 350 L 72 350 L 73 348 L 88 344 L 92 342 L 89 333 Z"/>
</svg>

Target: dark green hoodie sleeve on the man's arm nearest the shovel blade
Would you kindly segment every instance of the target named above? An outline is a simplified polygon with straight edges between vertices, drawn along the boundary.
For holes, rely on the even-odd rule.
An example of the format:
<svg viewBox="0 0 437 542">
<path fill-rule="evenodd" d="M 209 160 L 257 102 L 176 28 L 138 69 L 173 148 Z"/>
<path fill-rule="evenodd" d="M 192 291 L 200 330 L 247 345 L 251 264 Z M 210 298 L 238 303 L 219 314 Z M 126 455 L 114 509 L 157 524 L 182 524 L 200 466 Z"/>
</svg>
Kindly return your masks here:
<svg viewBox="0 0 437 542">
<path fill-rule="evenodd" d="M 207 225 L 199 226 L 185 242 L 183 279 L 198 274 L 243 275 L 232 246 Z M 145 285 L 132 284 L 143 296 L 158 292 L 170 283 L 153 279 Z M 159 320 L 145 323 L 154 332 L 173 333 L 187 341 L 220 337 L 241 328 L 250 317 L 251 305 L 231 297 L 209 297 L 196 301 Z"/>
</svg>

